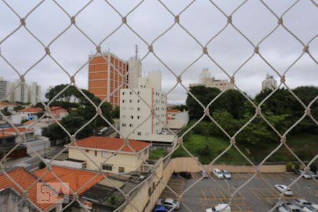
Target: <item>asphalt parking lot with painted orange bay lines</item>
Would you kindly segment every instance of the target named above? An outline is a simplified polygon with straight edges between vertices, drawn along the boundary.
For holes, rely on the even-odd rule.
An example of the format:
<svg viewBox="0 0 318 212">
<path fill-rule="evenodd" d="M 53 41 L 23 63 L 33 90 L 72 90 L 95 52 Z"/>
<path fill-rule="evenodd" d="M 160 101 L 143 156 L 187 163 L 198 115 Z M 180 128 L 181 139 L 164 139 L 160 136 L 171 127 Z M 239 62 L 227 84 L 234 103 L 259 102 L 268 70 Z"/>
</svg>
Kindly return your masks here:
<svg viewBox="0 0 318 212">
<path fill-rule="evenodd" d="M 213 176 L 213 175 L 212 175 Z M 172 189 L 181 194 L 184 189 L 191 186 L 201 175 L 192 173 L 192 179 L 170 179 L 168 183 Z M 194 185 L 186 194 L 183 201 L 192 211 L 205 211 L 217 204 L 228 203 L 231 194 L 252 177 L 252 173 L 232 173 L 232 179 L 202 179 Z M 279 192 L 273 188 L 274 184 L 290 184 L 296 179 L 295 174 L 261 174 L 252 179 L 251 182 L 240 189 L 232 199 L 232 212 L 236 211 L 269 211 L 273 207 L 273 201 L 278 199 Z M 180 183 L 180 184 L 179 184 Z M 180 190 L 181 189 L 181 190 Z M 307 199 L 318 204 L 318 184 L 312 179 L 300 179 L 291 187 L 293 196 L 285 196 L 285 200 Z M 175 194 L 167 188 L 163 192 L 165 198 L 175 198 Z M 188 211 L 181 206 L 179 211 Z"/>
</svg>

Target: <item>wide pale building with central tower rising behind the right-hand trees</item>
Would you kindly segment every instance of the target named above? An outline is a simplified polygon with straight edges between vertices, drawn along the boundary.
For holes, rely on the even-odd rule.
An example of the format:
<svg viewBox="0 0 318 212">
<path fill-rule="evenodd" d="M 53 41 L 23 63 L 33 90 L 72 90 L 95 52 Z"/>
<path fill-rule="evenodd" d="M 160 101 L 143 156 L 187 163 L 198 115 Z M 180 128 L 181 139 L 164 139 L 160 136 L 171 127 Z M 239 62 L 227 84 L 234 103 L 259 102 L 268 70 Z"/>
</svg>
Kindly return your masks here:
<svg viewBox="0 0 318 212">
<path fill-rule="evenodd" d="M 206 86 L 209 88 L 218 88 L 221 91 L 234 89 L 234 85 L 231 84 L 228 80 L 219 80 L 215 77 L 211 77 L 211 73 L 206 68 L 203 69 L 203 71 L 200 73 L 199 81 L 200 83 L 190 83 L 189 87 Z"/>
</svg>

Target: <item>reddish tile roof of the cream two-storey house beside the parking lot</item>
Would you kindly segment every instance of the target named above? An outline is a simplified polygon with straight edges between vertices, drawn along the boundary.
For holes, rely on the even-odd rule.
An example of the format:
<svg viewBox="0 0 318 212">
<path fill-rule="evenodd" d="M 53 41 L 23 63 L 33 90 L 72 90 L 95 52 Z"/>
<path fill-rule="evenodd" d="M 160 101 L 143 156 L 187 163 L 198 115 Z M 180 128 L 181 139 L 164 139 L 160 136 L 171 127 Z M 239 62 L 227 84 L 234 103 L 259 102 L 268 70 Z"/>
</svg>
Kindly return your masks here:
<svg viewBox="0 0 318 212">
<path fill-rule="evenodd" d="M 100 137 L 100 136 L 90 136 L 86 139 L 81 139 L 76 141 L 76 144 L 83 148 L 100 148 L 108 151 L 117 151 L 124 144 L 124 139 L 117 138 L 109 138 L 109 137 Z M 73 143 L 71 146 L 75 146 Z M 139 152 L 146 148 L 147 146 L 151 146 L 151 143 L 136 141 L 129 139 L 129 146 L 134 149 L 134 151 Z M 125 145 L 121 151 L 122 152 L 133 152 L 131 148 Z"/>
</svg>

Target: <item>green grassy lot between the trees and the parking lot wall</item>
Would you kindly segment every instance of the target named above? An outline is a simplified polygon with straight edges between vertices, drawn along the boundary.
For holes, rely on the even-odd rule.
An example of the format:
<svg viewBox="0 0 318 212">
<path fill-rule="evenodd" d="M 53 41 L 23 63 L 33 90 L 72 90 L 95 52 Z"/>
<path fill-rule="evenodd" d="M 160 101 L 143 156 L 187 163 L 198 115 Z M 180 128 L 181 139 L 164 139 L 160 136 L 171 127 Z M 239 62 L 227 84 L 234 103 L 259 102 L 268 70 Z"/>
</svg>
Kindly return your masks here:
<svg viewBox="0 0 318 212">
<path fill-rule="evenodd" d="M 318 135 L 315 134 L 299 134 L 297 136 L 287 137 L 288 146 L 298 155 L 301 160 L 311 160 L 318 149 Z M 203 164 L 211 163 L 214 158 L 216 158 L 220 153 L 222 153 L 225 148 L 230 145 L 230 141 L 223 138 L 218 138 L 214 136 L 202 136 L 199 134 L 190 134 L 186 141 L 184 141 L 184 146 L 192 153 L 195 157 L 199 158 L 199 161 Z M 258 164 L 266 155 L 269 155 L 279 145 L 277 143 L 258 143 L 255 146 L 242 146 L 237 143 L 240 150 L 247 155 L 247 157 L 252 160 L 253 163 Z M 151 159 L 158 159 L 167 152 L 161 149 L 153 150 L 150 152 Z M 179 147 L 173 157 L 184 157 L 189 156 L 189 154 L 184 151 L 182 147 Z M 288 151 L 285 146 L 276 151 L 271 158 L 266 160 L 266 162 L 272 163 L 286 163 L 295 162 L 296 159 Z M 240 153 L 232 146 L 225 154 L 223 154 L 216 163 L 226 163 L 226 164 L 249 164 L 245 158 L 240 155 Z"/>
</svg>

